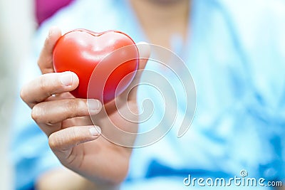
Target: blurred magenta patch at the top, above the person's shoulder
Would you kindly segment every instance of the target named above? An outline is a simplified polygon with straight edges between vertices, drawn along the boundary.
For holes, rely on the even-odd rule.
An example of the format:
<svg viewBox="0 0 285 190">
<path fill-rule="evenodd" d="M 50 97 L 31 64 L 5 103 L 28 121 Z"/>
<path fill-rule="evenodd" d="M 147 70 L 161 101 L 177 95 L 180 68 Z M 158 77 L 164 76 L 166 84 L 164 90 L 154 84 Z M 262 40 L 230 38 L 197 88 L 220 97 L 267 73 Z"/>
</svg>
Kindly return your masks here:
<svg viewBox="0 0 285 190">
<path fill-rule="evenodd" d="M 41 25 L 48 17 L 73 0 L 36 0 L 36 21 Z"/>
</svg>

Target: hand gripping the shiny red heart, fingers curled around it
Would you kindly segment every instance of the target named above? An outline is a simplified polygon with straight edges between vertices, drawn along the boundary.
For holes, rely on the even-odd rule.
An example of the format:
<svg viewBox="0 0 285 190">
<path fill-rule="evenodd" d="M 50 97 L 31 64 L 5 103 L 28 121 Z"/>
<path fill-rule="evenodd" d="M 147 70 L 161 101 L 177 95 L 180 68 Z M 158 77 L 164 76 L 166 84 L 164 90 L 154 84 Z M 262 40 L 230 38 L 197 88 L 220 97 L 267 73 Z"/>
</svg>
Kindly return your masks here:
<svg viewBox="0 0 285 190">
<path fill-rule="evenodd" d="M 72 72 L 54 73 L 53 70 L 53 46 L 60 37 L 61 31 L 51 28 L 38 58 L 43 75 L 24 85 L 21 98 L 31 107 L 33 120 L 46 133 L 51 150 L 65 167 L 95 183 L 119 184 L 128 174 L 132 149 L 113 144 L 100 133 L 112 134 L 114 127 L 127 132 L 138 130 L 137 122 L 132 122 L 138 121 L 138 115 L 131 114 L 138 112 L 136 90 L 123 93 L 116 102 L 108 102 L 107 105 L 98 100 L 73 97 L 69 92 L 78 86 L 77 75 Z M 139 52 L 143 58 L 150 55 L 149 48 L 139 48 Z M 140 60 L 140 70 L 145 68 L 146 62 L 146 59 Z M 139 79 L 140 73 L 133 83 L 138 83 Z M 120 115 L 123 112 L 132 121 L 123 119 Z M 135 137 L 118 139 L 133 144 Z"/>
</svg>

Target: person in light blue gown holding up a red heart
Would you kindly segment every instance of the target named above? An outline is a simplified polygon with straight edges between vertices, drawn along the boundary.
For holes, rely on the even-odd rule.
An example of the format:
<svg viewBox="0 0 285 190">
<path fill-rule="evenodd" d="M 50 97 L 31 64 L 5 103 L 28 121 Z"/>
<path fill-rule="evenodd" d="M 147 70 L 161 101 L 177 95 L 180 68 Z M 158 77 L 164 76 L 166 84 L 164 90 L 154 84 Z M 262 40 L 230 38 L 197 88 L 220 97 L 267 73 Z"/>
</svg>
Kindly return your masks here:
<svg viewBox="0 0 285 190">
<path fill-rule="evenodd" d="M 266 0 L 78 0 L 59 11 L 36 36 L 35 57 L 42 75 L 33 60 L 21 70 L 21 98 L 28 107 L 17 103 L 11 133 L 16 189 L 207 189 L 206 184 L 185 185 L 187 177 L 230 179 L 241 177 L 242 171 L 246 174 L 242 177 L 284 181 L 283 8 L 282 1 Z M 177 139 L 179 126 L 174 126 L 160 141 L 133 150 L 101 137 L 100 132 L 111 125 L 140 131 L 152 127 L 154 120 L 139 126 L 120 119 L 110 124 L 108 118 L 119 118 L 120 112 L 112 104 L 72 98 L 68 92 L 78 86 L 78 77 L 54 73 L 52 66 L 53 46 L 61 31 L 52 27 L 43 45 L 51 26 L 59 26 L 63 33 L 73 28 L 116 29 L 135 42 L 147 41 L 177 53 L 197 90 L 190 130 Z M 147 48 L 139 51 L 150 56 Z M 141 69 L 151 67 L 140 60 Z M 123 108 L 130 105 L 139 112 L 137 106 L 145 97 L 157 100 L 157 93 L 146 89 L 134 90 Z M 182 100 L 178 95 L 177 118 Z M 153 103 L 158 107 L 152 115 L 156 122 L 162 105 Z M 103 107 L 110 112 L 100 112 Z"/>
</svg>

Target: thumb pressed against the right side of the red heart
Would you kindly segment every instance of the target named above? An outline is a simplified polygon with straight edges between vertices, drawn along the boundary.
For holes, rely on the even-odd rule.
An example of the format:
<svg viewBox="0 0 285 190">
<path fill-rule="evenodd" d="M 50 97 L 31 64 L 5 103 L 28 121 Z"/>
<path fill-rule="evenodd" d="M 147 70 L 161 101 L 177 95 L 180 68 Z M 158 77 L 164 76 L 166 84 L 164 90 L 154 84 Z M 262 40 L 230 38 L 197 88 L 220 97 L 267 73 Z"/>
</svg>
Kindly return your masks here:
<svg viewBox="0 0 285 190">
<path fill-rule="evenodd" d="M 129 88 L 125 90 L 125 93 L 128 94 L 128 100 L 136 100 L 138 85 L 140 83 L 140 78 L 142 76 L 143 70 L 145 69 L 145 65 L 147 64 L 148 58 L 150 58 L 150 45 L 145 42 L 139 42 L 136 44 L 139 52 L 139 65 L 137 73 L 135 74 L 135 78 L 132 83 L 130 83 Z"/>
</svg>

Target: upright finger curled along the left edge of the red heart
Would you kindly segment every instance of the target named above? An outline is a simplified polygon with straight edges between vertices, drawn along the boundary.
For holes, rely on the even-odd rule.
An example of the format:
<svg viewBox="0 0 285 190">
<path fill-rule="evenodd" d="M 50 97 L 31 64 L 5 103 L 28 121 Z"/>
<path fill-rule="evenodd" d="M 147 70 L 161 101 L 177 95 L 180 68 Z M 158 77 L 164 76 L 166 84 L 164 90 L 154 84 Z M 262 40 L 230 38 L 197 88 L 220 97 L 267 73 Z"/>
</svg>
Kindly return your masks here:
<svg viewBox="0 0 285 190">
<path fill-rule="evenodd" d="M 53 26 L 49 29 L 48 36 L 41 50 L 41 54 L 38 58 L 38 67 L 41 69 L 41 73 L 53 73 L 53 47 L 56 45 L 56 41 L 61 37 L 61 29 Z"/>
</svg>

